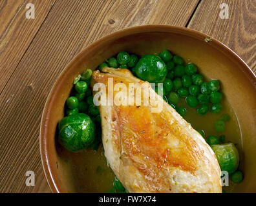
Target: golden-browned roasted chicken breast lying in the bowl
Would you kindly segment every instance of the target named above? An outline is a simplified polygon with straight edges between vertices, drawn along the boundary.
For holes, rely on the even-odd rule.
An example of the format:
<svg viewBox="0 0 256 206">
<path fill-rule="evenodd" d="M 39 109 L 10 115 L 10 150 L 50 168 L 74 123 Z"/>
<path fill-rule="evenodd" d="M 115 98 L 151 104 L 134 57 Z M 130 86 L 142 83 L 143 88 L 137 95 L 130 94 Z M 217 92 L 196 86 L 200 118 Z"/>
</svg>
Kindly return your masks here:
<svg viewBox="0 0 256 206">
<path fill-rule="evenodd" d="M 94 90 L 99 88 L 96 83 L 104 87 L 94 93 L 108 103 L 99 106 L 105 156 L 129 192 L 222 192 L 221 171 L 211 147 L 162 97 L 154 100 L 149 95 L 151 101 L 145 104 L 145 91 L 155 94 L 148 82 L 127 69 L 103 68 L 103 73 L 92 74 Z M 141 105 L 108 102 L 120 95 L 117 84 L 128 88 L 131 83 L 136 86 L 119 99 L 127 100 L 135 91 L 133 97 L 139 97 Z M 139 89 L 144 92 L 136 93 Z M 159 103 L 161 111 L 153 112 Z"/>
</svg>

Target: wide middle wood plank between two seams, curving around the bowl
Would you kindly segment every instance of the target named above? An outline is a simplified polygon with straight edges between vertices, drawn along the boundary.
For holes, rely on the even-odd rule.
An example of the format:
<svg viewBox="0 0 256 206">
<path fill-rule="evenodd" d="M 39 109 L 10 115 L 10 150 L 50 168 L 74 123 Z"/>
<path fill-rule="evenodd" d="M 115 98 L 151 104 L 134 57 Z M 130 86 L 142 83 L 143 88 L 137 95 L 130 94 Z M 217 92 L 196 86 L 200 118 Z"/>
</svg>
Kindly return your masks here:
<svg viewBox="0 0 256 206">
<path fill-rule="evenodd" d="M 0 192 L 50 191 L 39 154 L 39 124 L 52 84 L 74 55 L 127 26 L 185 26 L 197 2 L 56 1 L 0 95 Z M 25 186 L 28 170 L 36 174 L 35 187 Z"/>
</svg>

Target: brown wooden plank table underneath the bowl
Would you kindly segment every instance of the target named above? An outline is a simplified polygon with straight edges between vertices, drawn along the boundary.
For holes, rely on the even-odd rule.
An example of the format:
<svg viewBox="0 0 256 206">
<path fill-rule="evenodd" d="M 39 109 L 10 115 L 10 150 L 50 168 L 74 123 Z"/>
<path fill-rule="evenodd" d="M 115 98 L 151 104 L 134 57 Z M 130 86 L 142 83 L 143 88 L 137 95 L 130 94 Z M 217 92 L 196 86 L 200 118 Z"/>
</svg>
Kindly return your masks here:
<svg viewBox="0 0 256 206">
<path fill-rule="evenodd" d="M 220 18 L 221 3 L 228 19 Z M 255 19 L 256 0 L 0 0 L 0 192 L 50 192 L 41 113 L 59 73 L 86 46 L 129 26 L 185 26 L 223 42 L 256 73 Z M 34 187 L 26 171 L 34 171 Z"/>
</svg>

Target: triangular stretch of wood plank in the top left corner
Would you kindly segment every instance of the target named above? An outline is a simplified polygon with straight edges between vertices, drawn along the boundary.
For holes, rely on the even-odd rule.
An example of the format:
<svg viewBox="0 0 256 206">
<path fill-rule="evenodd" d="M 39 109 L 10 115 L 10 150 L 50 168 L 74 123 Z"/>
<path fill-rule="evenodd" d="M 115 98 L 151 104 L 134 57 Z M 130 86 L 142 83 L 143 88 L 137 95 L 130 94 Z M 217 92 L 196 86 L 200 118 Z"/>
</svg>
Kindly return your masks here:
<svg viewBox="0 0 256 206">
<path fill-rule="evenodd" d="M 26 52 L 55 0 L 0 1 L 0 93 Z M 35 19 L 27 19 L 27 3 L 35 6 Z"/>
</svg>

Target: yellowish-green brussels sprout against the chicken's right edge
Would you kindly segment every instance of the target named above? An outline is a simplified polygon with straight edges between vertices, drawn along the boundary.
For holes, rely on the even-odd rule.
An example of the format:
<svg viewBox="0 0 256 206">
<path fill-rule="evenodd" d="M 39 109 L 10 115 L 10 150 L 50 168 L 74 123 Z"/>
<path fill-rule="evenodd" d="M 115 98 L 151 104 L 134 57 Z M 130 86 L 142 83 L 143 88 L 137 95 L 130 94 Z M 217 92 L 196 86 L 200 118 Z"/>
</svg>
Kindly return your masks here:
<svg viewBox="0 0 256 206">
<path fill-rule="evenodd" d="M 211 145 L 222 171 L 229 174 L 235 172 L 239 166 L 239 152 L 232 143 Z"/>
</svg>

